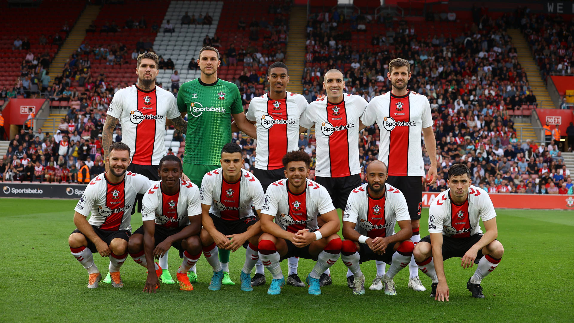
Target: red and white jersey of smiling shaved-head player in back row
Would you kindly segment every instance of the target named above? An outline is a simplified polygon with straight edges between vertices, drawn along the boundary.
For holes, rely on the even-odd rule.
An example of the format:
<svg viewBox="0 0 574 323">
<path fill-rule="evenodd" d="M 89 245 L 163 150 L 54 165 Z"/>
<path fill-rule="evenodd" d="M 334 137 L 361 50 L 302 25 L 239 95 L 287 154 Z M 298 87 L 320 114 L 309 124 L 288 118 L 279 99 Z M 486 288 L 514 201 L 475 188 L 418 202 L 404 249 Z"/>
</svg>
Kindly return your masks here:
<svg viewBox="0 0 574 323">
<path fill-rule="evenodd" d="M 327 98 L 309 103 L 299 124 L 315 125 L 317 164 L 315 176 L 343 177 L 359 174 L 359 117 L 367 101 L 360 95 L 343 93 L 343 101 Z"/>
</svg>

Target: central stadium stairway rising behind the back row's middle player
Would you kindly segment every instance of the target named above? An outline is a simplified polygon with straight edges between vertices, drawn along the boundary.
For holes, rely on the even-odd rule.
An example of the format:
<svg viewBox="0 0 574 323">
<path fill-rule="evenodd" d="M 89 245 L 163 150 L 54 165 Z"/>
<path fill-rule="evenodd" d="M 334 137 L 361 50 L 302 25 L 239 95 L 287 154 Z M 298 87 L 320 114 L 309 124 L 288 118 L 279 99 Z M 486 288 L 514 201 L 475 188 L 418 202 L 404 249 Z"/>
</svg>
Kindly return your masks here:
<svg viewBox="0 0 574 323">
<path fill-rule="evenodd" d="M 291 9 L 289 16 L 289 41 L 287 43 L 287 60 L 285 64 L 289 67 L 289 84 L 287 91 L 293 93 L 303 93 L 303 69 L 305 68 L 305 42 L 307 33 L 307 8 L 295 6 Z"/>
</svg>

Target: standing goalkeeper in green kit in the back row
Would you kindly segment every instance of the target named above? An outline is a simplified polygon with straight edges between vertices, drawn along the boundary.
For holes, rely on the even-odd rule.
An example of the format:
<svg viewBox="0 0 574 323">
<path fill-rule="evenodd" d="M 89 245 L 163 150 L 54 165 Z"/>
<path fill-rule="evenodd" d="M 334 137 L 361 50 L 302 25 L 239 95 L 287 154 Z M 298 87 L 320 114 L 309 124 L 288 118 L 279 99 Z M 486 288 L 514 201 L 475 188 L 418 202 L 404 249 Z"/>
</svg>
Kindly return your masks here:
<svg viewBox="0 0 574 323">
<path fill-rule="evenodd" d="M 197 65 L 199 78 L 181 84 L 177 93 L 177 107 L 181 116 L 187 114 L 188 132 L 185 136 L 183 172 L 197 186 L 205 173 L 221 165 L 221 149 L 231 142 L 231 117 L 236 131 L 241 130 L 255 138 L 255 126 L 245 118 L 241 94 L 231 82 L 218 79 L 217 69 L 221 61 L 219 51 L 204 47 L 199 51 Z M 223 284 L 234 285 L 229 278 L 229 251 L 220 250 L 219 260 L 223 267 Z"/>
</svg>

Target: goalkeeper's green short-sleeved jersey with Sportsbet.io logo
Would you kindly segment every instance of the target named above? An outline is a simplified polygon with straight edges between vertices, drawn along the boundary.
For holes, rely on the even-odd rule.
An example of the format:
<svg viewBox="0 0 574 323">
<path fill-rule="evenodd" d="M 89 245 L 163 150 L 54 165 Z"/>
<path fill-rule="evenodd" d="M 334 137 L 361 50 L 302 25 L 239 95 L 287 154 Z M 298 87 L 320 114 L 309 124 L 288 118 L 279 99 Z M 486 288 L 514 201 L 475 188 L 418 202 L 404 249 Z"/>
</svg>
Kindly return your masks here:
<svg viewBox="0 0 574 323">
<path fill-rule="evenodd" d="M 239 89 L 218 79 L 205 84 L 199 78 L 181 84 L 177 107 L 187 112 L 183 161 L 219 165 L 223 145 L 231 141 L 231 114 L 243 113 Z"/>
</svg>

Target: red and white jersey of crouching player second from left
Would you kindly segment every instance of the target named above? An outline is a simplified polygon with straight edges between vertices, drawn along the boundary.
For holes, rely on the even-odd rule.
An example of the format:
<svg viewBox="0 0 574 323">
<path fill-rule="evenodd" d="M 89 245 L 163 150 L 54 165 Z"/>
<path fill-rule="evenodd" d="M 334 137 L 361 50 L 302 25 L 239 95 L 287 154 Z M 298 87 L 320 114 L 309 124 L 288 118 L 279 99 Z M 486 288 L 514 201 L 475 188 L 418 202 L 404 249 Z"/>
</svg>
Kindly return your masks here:
<svg viewBox="0 0 574 323">
<path fill-rule="evenodd" d="M 161 180 L 153 182 L 142 199 L 142 221 L 154 220 L 167 229 L 188 225 L 189 217 L 199 215 L 199 189 L 185 180 L 180 180 L 180 189 L 173 195 L 161 189 Z"/>
</svg>

